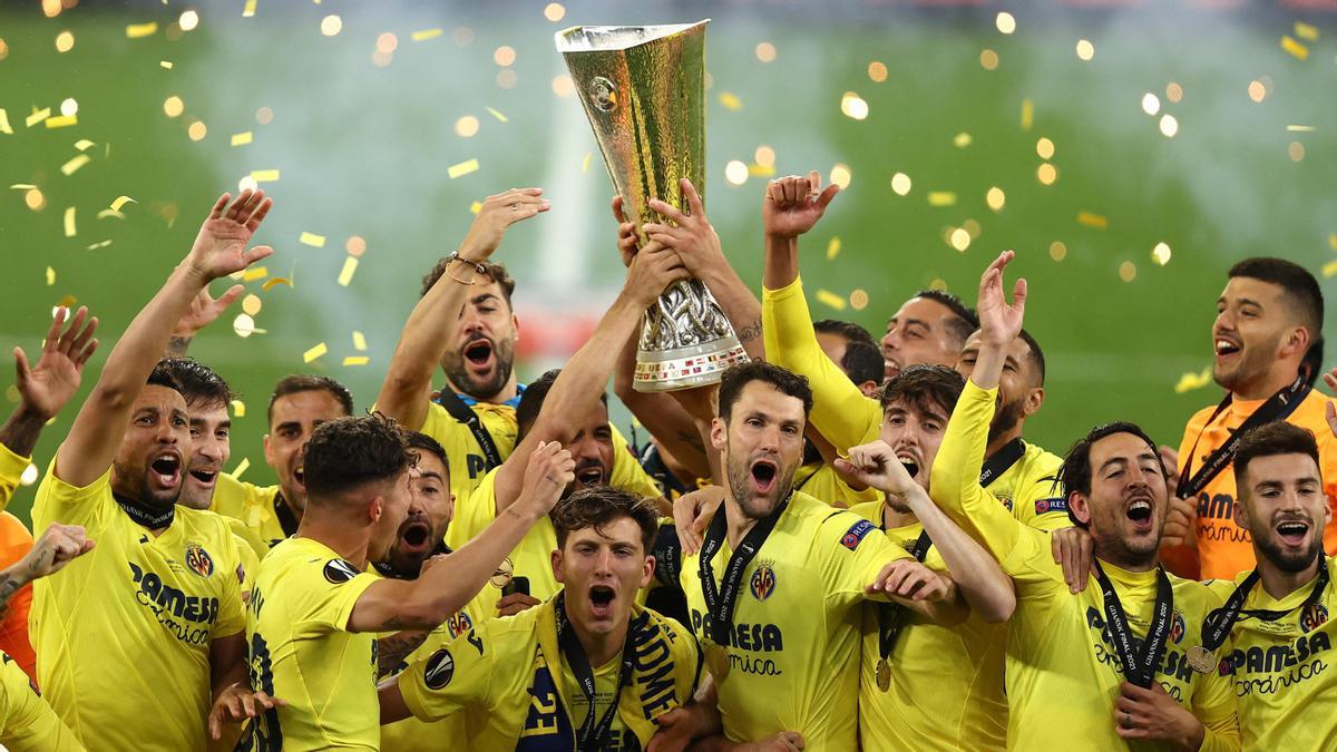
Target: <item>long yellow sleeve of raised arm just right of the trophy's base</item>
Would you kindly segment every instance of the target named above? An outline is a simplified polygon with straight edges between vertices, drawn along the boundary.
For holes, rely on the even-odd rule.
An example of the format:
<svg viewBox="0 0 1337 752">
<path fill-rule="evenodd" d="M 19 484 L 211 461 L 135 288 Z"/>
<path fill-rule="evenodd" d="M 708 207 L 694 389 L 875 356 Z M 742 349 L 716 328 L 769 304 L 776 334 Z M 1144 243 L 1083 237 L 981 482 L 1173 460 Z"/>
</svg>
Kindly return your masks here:
<svg viewBox="0 0 1337 752">
<path fill-rule="evenodd" d="M 849 376 L 832 363 L 817 343 L 813 318 L 804 300 L 804 281 L 796 278 L 778 290 L 761 292 L 762 336 L 766 359 L 808 377 L 813 388 L 813 427 L 845 452 L 877 438 L 882 408 L 864 396 Z"/>
</svg>

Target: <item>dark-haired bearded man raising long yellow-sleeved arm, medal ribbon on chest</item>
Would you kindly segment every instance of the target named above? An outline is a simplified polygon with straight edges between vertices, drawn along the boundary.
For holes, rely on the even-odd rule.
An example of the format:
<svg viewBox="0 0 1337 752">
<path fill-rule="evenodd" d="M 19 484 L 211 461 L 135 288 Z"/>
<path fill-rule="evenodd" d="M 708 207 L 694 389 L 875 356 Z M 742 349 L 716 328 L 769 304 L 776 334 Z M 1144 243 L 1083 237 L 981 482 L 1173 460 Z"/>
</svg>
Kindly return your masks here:
<svg viewBox="0 0 1337 752">
<path fill-rule="evenodd" d="M 1238 749 L 1233 688 L 1189 653 L 1221 598 L 1158 565 L 1165 466 L 1130 423 L 1092 430 L 1068 452 L 1063 492 L 1087 526 L 1096 587 L 1074 593 L 1050 541 L 980 486 L 1004 348 L 1021 328 L 1025 282 L 1003 290 L 1004 252 L 980 280 L 983 347 L 933 463 L 932 498 L 999 561 L 1016 587 L 1008 630 L 1009 749 Z M 1062 719 L 1055 711 L 1062 709 Z"/>
</svg>

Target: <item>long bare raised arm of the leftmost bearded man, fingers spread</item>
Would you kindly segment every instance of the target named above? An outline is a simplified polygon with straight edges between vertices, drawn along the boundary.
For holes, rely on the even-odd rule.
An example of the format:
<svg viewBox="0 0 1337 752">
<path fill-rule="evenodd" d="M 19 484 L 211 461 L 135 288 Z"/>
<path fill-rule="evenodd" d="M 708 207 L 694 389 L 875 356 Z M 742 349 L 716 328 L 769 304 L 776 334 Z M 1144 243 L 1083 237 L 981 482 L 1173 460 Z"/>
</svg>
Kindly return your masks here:
<svg viewBox="0 0 1337 752">
<path fill-rule="evenodd" d="M 190 302 L 209 282 L 241 272 L 274 253 L 269 246 L 246 249 L 270 206 L 273 201 L 265 198 L 262 190 L 245 190 L 237 201 L 226 193 L 218 198 L 201 225 L 190 253 L 135 316 L 107 356 L 98 385 L 84 400 L 70 435 L 56 452 L 56 478 L 83 487 L 111 467 L 135 397 L 167 349 L 172 326 Z"/>
</svg>

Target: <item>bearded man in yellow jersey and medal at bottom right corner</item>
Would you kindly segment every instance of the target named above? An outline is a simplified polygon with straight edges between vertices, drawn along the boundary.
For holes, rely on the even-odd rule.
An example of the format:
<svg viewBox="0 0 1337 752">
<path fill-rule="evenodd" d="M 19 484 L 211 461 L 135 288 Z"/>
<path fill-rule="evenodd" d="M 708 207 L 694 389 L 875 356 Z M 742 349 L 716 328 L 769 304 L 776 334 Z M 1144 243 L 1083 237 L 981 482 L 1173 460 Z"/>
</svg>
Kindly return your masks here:
<svg viewBox="0 0 1337 752">
<path fill-rule="evenodd" d="M 1337 431 L 1332 408 L 1328 421 Z M 1333 559 L 1324 555 L 1332 510 L 1318 446 L 1308 430 L 1278 420 L 1242 436 L 1235 450 L 1235 519 L 1258 565 L 1209 583 L 1226 605 L 1207 621 L 1197 653 L 1202 668 L 1234 681 L 1246 751 L 1337 748 L 1329 665 L 1337 595 Z"/>
</svg>

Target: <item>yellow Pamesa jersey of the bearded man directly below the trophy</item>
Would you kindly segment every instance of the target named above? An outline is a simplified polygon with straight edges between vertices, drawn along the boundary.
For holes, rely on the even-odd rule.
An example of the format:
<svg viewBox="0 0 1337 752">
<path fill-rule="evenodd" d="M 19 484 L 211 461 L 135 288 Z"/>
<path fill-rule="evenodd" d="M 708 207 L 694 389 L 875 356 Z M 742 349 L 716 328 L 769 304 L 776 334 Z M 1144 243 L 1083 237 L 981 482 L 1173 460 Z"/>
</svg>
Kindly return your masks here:
<svg viewBox="0 0 1337 752">
<path fill-rule="evenodd" d="M 730 555 L 726 538 L 711 559 L 717 579 Z M 730 670 L 715 677 L 729 739 L 797 731 L 809 752 L 854 749 L 864 589 L 897 558 L 909 554 L 876 525 L 794 492 L 742 574 L 747 586 L 726 646 Z M 699 554 L 682 565 L 691 630 L 705 640 L 710 617 Z"/>
</svg>

